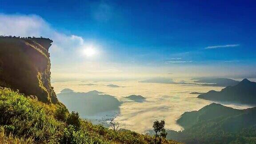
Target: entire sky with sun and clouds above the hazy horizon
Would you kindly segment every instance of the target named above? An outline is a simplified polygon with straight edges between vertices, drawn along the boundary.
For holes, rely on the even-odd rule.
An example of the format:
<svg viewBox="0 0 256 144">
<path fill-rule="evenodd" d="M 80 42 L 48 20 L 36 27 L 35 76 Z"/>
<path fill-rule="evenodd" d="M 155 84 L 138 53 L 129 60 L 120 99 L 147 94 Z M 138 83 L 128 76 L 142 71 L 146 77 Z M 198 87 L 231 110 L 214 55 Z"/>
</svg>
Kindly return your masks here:
<svg viewBox="0 0 256 144">
<path fill-rule="evenodd" d="M 256 77 L 253 0 L 0 0 L 0 35 L 44 36 L 52 77 Z"/>
</svg>

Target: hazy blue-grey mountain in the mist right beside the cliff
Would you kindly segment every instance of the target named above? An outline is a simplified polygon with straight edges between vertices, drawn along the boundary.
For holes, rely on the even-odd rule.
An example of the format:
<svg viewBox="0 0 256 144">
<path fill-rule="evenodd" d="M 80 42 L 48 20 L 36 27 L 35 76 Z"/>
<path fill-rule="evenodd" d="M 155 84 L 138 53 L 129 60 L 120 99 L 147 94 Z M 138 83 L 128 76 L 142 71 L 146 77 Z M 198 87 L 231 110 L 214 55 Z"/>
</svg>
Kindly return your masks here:
<svg viewBox="0 0 256 144">
<path fill-rule="evenodd" d="M 57 96 L 70 111 L 79 112 L 84 118 L 98 114 L 104 117 L 110 111 L 119 112 L 121 103 L 114 96 L 103 93 L 96 90 L 90 92 L 70 91 L 61 92 Z"/>
</svg>

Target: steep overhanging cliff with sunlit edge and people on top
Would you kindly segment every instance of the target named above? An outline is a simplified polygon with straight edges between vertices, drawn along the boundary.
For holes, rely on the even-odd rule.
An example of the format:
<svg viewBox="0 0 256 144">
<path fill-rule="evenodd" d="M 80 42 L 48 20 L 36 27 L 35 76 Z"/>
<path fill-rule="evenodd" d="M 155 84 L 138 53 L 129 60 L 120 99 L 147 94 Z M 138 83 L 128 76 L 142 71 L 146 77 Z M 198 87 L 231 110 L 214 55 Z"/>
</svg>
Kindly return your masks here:
<svg viewBox="0 0 256 144">
<path fill-rule="evenodd" d="M 18 89 L 44 103 L 57 104 L 50 83 L 51 43 L 46 38 L 0 37 L 0 86 Z"/>
</svg>

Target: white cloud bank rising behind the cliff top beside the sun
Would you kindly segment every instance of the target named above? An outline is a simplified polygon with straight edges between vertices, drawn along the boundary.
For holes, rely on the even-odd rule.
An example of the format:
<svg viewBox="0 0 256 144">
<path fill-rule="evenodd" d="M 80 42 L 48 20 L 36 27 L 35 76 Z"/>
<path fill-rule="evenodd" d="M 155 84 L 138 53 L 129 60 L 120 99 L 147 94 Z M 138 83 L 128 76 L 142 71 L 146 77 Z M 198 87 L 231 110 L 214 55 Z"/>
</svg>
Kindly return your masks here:
<svg viewBox="0 0 256 144">
<path fill-rule="evenodd" d="M 92 45 L 80 36 L 66 35 L 56 31 L 43 18 L 37 15 L 0 13 L 0 35 L 21 37 L 43 36 L 50 38 L 53 40 L 50 52 L 56 60 L 60 59 L 59 57 L 61 57 L 61 60 L 67 60 L 72 55 L 77 55 L 80 49 Z M 73 58 L 76 57 L 73 56 Z"/>
</svg>

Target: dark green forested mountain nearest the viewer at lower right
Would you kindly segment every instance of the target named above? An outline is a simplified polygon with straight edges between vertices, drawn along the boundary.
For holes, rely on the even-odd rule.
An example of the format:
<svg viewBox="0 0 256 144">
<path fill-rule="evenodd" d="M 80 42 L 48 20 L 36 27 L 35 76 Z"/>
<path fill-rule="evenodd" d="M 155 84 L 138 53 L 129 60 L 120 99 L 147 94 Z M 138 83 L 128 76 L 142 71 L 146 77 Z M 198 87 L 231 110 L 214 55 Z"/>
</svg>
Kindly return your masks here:
<svg viewBox="0 0 256 144">
<path fill-rule="evenodd" d="M 168 131 L 167 138 L 188 144 L 256 143 L 256 107 L 240 110 L 212 103 L 185 112 L 177 124 L 184 130 Z"/>
</svg>

